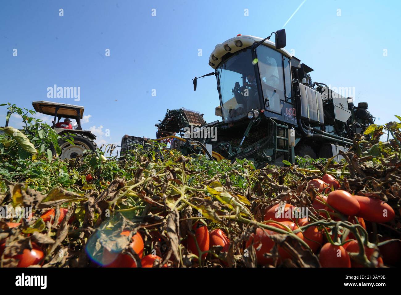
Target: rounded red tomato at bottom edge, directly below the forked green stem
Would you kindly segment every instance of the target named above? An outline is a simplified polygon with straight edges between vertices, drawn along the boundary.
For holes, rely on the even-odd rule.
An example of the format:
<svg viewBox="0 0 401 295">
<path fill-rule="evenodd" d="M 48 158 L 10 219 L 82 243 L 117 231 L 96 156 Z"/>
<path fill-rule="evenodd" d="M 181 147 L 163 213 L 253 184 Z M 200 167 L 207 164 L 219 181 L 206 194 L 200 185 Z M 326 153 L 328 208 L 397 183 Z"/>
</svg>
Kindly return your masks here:
<svg viewBox="0 0 401 295">
<path fill-rule="evenodd" d="M 330 243 L 320 249 L 319 261 L 322 267 L 351 267 L 350 256 L 344 247 Z"/>
</svg>

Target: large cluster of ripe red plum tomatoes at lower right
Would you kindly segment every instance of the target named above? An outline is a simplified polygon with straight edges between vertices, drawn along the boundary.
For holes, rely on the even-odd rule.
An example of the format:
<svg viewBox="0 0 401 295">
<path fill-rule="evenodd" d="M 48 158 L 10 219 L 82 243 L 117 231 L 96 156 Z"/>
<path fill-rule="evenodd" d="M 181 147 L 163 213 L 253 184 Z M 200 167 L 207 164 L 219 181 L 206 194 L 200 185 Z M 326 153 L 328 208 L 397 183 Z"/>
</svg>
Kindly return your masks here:
<svg viewBox="0 0 401 295">
<path fill-rule="evenodd" d="M 325 219 L 328 216 L 330 216 L 329 220 L 334 221 L 344 220 L 345 218 L 351 224 L 355 224 L 357 220 L 358 224 L 366 230 L 365 220 L 385 223 L 391 222 L 395 218 L 394 210 L 387 203 L 371 197 L 351 195 L 340 189 L 340 183 L 332 175 L 326 174 L 322 179 L 309 181 L 307 191 L 318 193 L 318 195 L 315 194 L 316 198 L 312 202 L 312 207 Z M 310 223 L 307 218 L 294 218 L 294 214 L 290 213 L 295 210 L 294 205 L 277 204 L 266 210 L 263 220 L 268 222 L 269 226 L 286 228 L 286 230 L 290 229 L 291 232 L 294 232 L 299 227 L 307 226 Z M 339 216 L 344 217 L 340 218 Z M 350 258 L 350 253 L 358 254 L 360 250 L 354 234 L 350 232 L 348 236 L 343 238 L 345 243 L 339 244 L 339 241 L 334 240 L 336 235 L 329 233 L 330 230 L 330 228 L 323 226 L 309 226 L 302 231 L 296 231 L 296 235 L 308 244 L 312 252 L 318 254 L 322 267 L 362 267 L 362 264 Z M 344 234 L 344 232 L 345 230 L 342 229 L 341 233 Z M 246 247 L 253 245 L 255 248 L 259 265 L 273 264 L 271 252 L 275 242 L 273 242 L 272 236 L 275 234 L 277 232 L 273 230 L 257 228 L 246 243 Z M 325 234 L 327 234 L 326 238 Z M 370 245 L 372 246 L 372 244 Z M 384 262 L 395 265 L 401 260 L 400 245 L 401 243 L 398 241 L 393 241 L 379 248 L 377 245 L 373 248 L 365 246 L 364 250 L 368 260 L 375 266 L 381 267 Z M 395 250 L 395 248 L 397 249 Z M 391 251 L 397 253 L 391 253 Z M 277 252 L 278 262 L 291 258 L 290 254 L 281 246 L 277 246 Z M 379 253 L 383 258 L 379 256 Z M 392 259 L 393 257 L 394 259 Z"/>
</svg>

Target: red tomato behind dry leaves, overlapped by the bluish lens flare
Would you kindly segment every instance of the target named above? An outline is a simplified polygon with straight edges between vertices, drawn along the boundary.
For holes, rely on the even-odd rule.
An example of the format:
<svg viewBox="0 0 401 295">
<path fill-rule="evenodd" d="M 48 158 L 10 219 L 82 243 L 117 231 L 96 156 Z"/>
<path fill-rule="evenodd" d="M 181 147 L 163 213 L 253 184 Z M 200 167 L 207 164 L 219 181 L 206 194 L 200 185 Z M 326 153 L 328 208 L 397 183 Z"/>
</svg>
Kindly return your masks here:
<svg viewBox="0 0 401 295">
<path fill-rule="evenodd" d="M 121 235 L 129 236 L 130 231 L 124 230 Z M 138 254 L 139 258 L 142 258 L 144 254 L 144 240 L 139 232 L 132 236 L 130 247 Z M 110 252 L 106 248 L 103 248 L 103 265 L 104 267 L 136 267 L 136 262 L 130 254 Z"/>
</svg>

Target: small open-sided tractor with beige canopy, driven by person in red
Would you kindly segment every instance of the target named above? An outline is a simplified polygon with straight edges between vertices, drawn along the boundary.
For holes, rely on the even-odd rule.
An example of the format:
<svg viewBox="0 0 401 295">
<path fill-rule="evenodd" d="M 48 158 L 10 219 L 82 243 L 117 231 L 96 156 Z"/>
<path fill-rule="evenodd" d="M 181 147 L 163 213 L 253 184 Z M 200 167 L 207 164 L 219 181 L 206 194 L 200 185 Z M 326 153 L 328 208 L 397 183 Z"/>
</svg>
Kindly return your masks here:
<svg viewBox="0 0 401 295">
<path fill-rule="evenodd" d="M 36 101 L 32 102 L 34 110 L 38 113 L 54 116 L 52 128 L 60 135 L 71 134 L 73 143 L 65 140 L 59 140 L 61 148 L 61 159 L 74 159 L 83 155 L 85 150 L 96 151 L 97 145 L 93 141 L 96 139 L 95 134 L 89 130 L 82 130 L 81 119 L 83 118 L 83 106 L 75 106 L 73 104 L 59 104 L 55 102 Z M 75 119 L 77 126 L 75 129 L 58 128 L 57 123 L 61 118 Z M 52 149 L 53 156 L 57 155 L 55 149 Z"/>
</svg>

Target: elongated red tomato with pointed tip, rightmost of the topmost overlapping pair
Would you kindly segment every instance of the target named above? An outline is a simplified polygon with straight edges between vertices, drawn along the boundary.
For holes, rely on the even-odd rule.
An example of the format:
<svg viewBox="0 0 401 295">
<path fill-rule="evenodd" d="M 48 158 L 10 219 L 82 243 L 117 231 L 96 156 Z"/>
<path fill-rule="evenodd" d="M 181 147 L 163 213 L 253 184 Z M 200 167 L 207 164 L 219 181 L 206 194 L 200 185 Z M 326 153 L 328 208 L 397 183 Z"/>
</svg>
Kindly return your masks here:
<svg viewBox="0 0 401 295">
<path fill-rule="evenodd" d="M 359 217 L 371 222 L 385 223 L 394 219 L 395 213 L 391 206 L 379 199 L 371 197 L 354 196 L 360 205 Z"/>
</svg>

